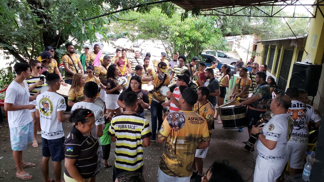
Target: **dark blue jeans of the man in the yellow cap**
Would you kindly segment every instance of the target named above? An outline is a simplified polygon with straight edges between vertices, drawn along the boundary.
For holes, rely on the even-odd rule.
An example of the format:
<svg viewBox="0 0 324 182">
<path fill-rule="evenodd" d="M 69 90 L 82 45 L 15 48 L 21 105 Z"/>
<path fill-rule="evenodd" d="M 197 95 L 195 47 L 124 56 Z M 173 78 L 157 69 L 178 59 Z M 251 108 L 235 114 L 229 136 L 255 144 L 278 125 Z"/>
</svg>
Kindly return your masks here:
<svg viewBox="0 0 324 182">
<path fill-rule="evenodd" d="M 152 121 L 152 138 L 156 139 L 156 125 L 158 121 L 158 129 L 161 128 L 163 106 L 161 103 L 152 100 L 151 102 L 151 121 Z M 156 119 L 157 118 L 157 119 Z"/>
</svg>

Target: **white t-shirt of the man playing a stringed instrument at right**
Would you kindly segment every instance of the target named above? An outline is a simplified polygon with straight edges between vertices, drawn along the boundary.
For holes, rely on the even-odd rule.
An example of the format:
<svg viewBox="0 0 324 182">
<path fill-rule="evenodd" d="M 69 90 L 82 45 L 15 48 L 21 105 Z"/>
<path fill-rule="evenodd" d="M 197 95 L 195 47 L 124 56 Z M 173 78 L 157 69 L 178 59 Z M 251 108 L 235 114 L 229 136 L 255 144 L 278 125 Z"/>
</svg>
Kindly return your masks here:
<svg viewBox="0 0 324 182">
<path fill-rule="evenodd" d="M 273 150 L 268 149 L 260 140 L 257 141 L 258 157 L 268 161 L 284 159 L 287 142 L 293 130 L 293 119 L 285 114 L 277 114 L 266 123 L 261 133 L 267 140 L 277 142 Z"/>
</svg>

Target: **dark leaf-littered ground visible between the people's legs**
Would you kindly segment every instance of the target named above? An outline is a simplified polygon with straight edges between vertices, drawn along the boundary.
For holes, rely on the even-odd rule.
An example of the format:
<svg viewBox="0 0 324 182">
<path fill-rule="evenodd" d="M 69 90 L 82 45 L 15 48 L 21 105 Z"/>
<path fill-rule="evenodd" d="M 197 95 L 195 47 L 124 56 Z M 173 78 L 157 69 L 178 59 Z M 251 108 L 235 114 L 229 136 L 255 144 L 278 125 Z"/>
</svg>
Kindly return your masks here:
<svg viewBox="0 0 324 182">
<path fill-rule="evenodd" d="M 148 118 L 150 122 L 150 112 L 146 111 L 145 117 Z M 216 124 L 216 122 L 207 157 L 203 160 L 203 171 L 206 172 L 215 160 L 226 159 L 229 161 L 230 165 L 237 168 L 244 180 L 252 182 L 254 171 L 253 160 L 255 162 L 257 153 L 256 151 L 254 151 L 251 154 L 250 152 L 244 152 L 242 150 L 244 147 L 242 140 L 248 139 L 247 128 L 244 128 L 243 132 L 238 132 L 237 129 L 226 130 L 222 128 L 221 124 Z M 65 136 L 70 132 L 71 127 L 71 123 L 63 123 Z M 10 133 L 8 128 L 8 122 L 6 120 L 5 123 L 0 124 L 0 136 L 0 181 L 22 181 L 21 179 L 15 177 L 16 169 L 14 165 L 14 160 L 12 158 L 12 150 L 10 147 Z M 26 172 L 33 176 L 33 179 L 29 180 L 30 182 L 40 182 L 43 180 L 41 175 L 41 135 L 38 135 L 38 141 L 38 148 L 33 148 L 30 143 L 27 149 L 23 151 L 24 161 L 36 164 L 35 167 L 26 169 Z M 114 164 L 114 150 L 115 144 L 113 143 L 111 145 L 110 151 L 110 164 Z M 151 145 L 149 147 L 144 148 L 145 165 L 143 176 L 146 182 L 157 181 L 157 169 L 160 163 L 160 156 L 162 156 L 163 150 L 164 144 L 159 144 L 157 142 L 151 142 Z M 112 169 L 112 167 L 108 169 L 103 168 L 101 172 L 97 175 L 97 181 L 111 182 Z M 62 162 L 62 173 L 63 171 L 64 161 Z M 52 162 L 50 162 L 50 177 L 54 177 L 52 170 Z"/>
</svg>

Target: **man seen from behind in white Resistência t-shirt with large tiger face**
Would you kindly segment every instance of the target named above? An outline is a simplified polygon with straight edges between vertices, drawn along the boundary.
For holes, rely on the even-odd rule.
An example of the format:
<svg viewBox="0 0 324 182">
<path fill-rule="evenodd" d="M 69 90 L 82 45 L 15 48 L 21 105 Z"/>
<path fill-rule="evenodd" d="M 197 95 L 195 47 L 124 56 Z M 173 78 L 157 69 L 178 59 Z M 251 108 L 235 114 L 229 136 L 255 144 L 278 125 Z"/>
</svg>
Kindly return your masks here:
<svg viewBox="0 0 324 182">
<path fill-rule="evenodd" d="M 287 88 L 286 94 L 291 98 L 288 114 L 294 120 L 294 130 L 286 148 L 286 161 L 289 159 L 290 176 L 295 176 L 302 173 L 304 168 L 303 164 L 308 144 L 308 123 L 313 120 L 315 127 L 319 128 L 321 117 L 313 106 L 298 100 L 298 88 L 291 86 Z"/>
</svg>

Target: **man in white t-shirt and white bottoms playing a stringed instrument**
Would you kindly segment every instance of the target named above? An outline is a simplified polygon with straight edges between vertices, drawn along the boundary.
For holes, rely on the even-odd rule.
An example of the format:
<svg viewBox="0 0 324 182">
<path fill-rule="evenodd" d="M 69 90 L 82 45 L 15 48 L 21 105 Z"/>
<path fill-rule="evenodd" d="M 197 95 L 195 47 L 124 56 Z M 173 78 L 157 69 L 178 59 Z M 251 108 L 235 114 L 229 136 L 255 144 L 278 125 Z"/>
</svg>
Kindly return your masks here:
<svg viewBox="0 0 324 182">
<path fill-rule="evenodd" d="M 286 95 L 273 98 L 270 109 L 273 117 L 262 129 L 252 126 L 258 157 L 255 163 L 254 182 L 275 182 L 286 164 L 285 149 L 293 130 L 293 119 L 287 114 L 291 100 Z"/>
</svg>

